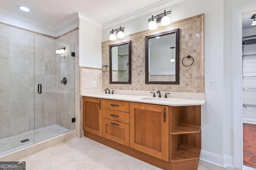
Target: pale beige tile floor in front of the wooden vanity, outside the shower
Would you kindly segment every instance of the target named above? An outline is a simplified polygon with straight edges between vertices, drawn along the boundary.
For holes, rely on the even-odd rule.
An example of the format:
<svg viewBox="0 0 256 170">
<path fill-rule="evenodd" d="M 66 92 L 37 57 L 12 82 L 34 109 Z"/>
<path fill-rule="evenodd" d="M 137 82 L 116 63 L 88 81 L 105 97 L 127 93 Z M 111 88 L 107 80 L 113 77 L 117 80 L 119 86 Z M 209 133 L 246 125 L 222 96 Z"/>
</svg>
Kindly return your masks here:
<svg viewBox="0 0 256 170">
<path fill-rule="evenodd" d="M 160 170 L 86 137 L 75 137 L 19 161 L 26 161 L 26 170 Z M 237 169 L 200 161 L 198 170 Z"/>
</svg>

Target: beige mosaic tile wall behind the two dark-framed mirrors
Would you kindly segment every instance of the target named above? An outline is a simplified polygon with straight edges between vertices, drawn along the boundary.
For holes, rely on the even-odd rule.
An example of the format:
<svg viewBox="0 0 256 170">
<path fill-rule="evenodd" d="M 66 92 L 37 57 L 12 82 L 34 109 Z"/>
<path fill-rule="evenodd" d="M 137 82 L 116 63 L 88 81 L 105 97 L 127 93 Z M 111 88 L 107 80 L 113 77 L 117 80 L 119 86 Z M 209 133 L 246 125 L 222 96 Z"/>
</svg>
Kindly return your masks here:
<svg viewBox="0 0 256 170">
<path fill-rule="evenodd" d="M 180 84 L 145 84 L 145 37 L 176 28 L 180 28 Z M 203 14 L 158 27 L 154 31 L 146 30 L 126 35 L 121 41 L 102 42 L 102 65 L 109 66 L 109 45 L 128 40 L 132 41 L 132 84 L 109 84 L 108 68 L 107 72 L 102 73 L 103 88 L 204 93 Z M 183 66 L 181 62 L 187 55 L 194 58 L 194 64 L 190 67 Z M 184 64 L 191 61 L 186 62 Z"/>
</svg>

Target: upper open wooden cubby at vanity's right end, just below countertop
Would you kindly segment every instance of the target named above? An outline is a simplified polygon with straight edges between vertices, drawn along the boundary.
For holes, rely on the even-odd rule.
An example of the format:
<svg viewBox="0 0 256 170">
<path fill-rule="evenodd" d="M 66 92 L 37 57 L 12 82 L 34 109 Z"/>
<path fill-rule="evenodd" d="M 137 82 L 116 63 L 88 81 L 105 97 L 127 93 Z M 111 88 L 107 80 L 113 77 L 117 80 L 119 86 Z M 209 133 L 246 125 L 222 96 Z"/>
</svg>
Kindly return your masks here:
<svg viewBox="0 0 256 170">
<path fill-rule="evenodd" d="M 175 106 L 170 108 L 170 113 L 171 135 L 200 132 L 200 106 Z"/>
</svg>

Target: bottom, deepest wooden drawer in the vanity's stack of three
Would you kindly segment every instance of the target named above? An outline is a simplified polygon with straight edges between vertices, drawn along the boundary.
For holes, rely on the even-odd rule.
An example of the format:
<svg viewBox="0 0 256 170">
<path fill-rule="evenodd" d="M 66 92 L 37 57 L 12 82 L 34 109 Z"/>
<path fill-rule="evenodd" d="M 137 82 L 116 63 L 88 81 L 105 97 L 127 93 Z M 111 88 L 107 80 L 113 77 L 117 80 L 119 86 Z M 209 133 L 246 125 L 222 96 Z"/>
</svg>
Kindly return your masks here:
<svg viewBox="0 0 256 170">
<path fill-rule="evenodd" d="M 102 137 L 129 147 L 129 125 L 118 121 L 102 119 Z"/>
</svg>

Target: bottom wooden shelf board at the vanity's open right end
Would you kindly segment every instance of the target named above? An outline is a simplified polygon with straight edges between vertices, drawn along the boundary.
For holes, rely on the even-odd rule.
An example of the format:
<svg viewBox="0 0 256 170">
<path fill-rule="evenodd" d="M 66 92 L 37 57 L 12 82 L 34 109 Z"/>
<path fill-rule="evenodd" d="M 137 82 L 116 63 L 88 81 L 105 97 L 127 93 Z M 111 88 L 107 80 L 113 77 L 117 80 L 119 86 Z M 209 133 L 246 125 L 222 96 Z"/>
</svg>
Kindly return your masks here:
<svg viewBox="0 0 256 170">
<path fill-rule="evenodd" d="M 201 149 L 187 144 L 180 144 L 174 151 L 171 162 L 181 162 L 185 160 L 199 159 Z"/>
</svg>

